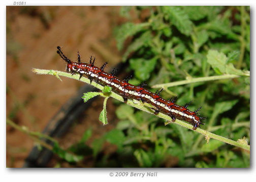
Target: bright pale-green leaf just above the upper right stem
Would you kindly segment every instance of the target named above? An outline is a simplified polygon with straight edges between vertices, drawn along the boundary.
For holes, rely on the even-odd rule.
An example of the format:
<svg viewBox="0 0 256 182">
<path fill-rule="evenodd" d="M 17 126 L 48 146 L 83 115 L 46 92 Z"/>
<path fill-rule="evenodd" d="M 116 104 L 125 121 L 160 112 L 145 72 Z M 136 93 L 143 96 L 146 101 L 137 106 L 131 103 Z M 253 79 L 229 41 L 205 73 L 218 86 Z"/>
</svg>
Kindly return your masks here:
<svg viewBox="0 0 256 182">
<path fill-rule="evenodd" d="M 207 63 L 211 65 L 218 74 L 226 72 L 227 56 L 215 50 L 209 50 L 207 54 Z"/>
</svg>

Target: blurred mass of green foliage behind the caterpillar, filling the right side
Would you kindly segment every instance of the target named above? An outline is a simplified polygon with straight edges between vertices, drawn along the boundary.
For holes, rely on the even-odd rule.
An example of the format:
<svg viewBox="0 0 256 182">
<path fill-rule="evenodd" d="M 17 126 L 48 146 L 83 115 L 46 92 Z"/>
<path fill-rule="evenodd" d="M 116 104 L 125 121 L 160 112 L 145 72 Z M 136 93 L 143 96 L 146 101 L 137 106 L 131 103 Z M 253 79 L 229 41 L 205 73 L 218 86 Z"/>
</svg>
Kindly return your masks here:
<svg viewBox="0 0 256 182">
<path fill-rule="evenodd" d="M 140 23 L 133 22 L 131 11 Z M 235 141 L 245 136 L 249 143 L 250 85 L 244 77 L 250 69 L 249 13 L 249 7 L 122 7 L 120 14 L 128 21 L 114 33 L 122 61 L 130 65 L 126 71 L 135 75 L 130 83 L 146 81 L 150 87 L 187 77 L 243 75 L 169 87 L 162 96 L 178 96 L 179 105 L 193 100 L 189 109 L 203 106 L 200 113 L 207 117 L 203 129 Z M 162 119 L 125 104 L 116 115 L 116 128 L 91 147 L 97 167 L 250 165 L 249 153 L 242 149 L 217 140 L 207 143 L 196 132 L 164 126 Z M 117 147 L 114 156 L 99 157 L 105 142 Z"/>
</svg>

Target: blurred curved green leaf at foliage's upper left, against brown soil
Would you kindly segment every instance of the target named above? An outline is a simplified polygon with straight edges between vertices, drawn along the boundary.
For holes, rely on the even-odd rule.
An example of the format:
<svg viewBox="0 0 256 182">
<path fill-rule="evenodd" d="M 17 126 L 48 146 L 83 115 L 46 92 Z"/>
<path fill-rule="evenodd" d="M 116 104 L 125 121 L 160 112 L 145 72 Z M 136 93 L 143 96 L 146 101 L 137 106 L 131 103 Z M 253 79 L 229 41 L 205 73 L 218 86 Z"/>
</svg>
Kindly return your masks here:
<svg viewBox="0 0 256 182">
<path fill-rule="evenodd" d="M 146 30 L 146 27 L 148 26 L 148 23 L 140 23 L 140 24 L 134 24 L 131 22 L 127 22 L 125 24 L 122 24 L 120 28 L 118 28 L 116 40 L 117 40 L 117 49 L 121 50 L 123 48 L 123 42 L 128 38 L 129 36 L 135 35 L 136 33 Z"/>
</svg>

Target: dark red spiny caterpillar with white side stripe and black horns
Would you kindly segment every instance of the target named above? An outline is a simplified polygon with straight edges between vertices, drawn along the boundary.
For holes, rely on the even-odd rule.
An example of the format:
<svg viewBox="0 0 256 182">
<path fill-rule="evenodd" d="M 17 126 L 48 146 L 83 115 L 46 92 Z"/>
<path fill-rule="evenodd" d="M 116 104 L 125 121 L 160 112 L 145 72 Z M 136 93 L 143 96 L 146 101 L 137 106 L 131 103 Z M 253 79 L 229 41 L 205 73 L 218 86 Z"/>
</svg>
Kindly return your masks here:
<svg viewBox="0 0 256 182">
<path fill-rule="evenodd" d="M 60 50 L 60 47 L 57 47 L 58 51 L 57 53 L 59 56 L 65 60 L 67 64 L 67 72 L 75 74 L 80 74 L 80 78 L 83 74 L 88 76 L 90 81 L 93 79 L 96 80 L 98 83 L 102 85 L 107 85 L 112 87 L 113 92 L 121 95 L 123 97 L 124 102 L 127 101 L 127 99 L 136 99 L 140 100 L 143 103 L 149 103 L 152 106 L 154 106 L 156 109 L 154 109 L 154 113 L 158 114 L 158 112 L 166 113 L 172 118 L 172 121 L 175 121 L 175 119 L 181 119 L 185 120 L 193 125 L 193 129 L 197 129 L 197 127 L 200 127 L 200 124 L 203 124 L 200 119 L 205 119 L 204 117 L 197 116 L 197 112 L 201 107 L 192 112 L 187 109 L 187 106 L 191 103 L 187 103 L 185 106 L 178 106 L 175 104 L 174 98 L 172 101 L 167 101 L 159 96 L 159 94 L 162 92 L 163 89 L 161 89 L 158 93 L 155 94 L 150 92 L 149 90 L 143 88 L 143 84 L 140 86 L 135 86 L 130 83 L 128 83 L 130 78 L 126 78 L 124 81 L 118 79 L 115 76 L 115 71 L 113 70 L 111 73 L 106 73 L 104 71 L 104 68 L 107 65 L 107 62 L 104 63 L 104 65 L 101 68 L 98 68 L 94 66 L 95 58 L 91 59 L 90 57 L 90 63 L 81 63 L 80 60 L 80 54 L 77 52 L 78 55 L 78 63 L 72 62 L 70 59 L 68 59 Z M 79 78 L 79 79 L 80 79 Z"/>
</svg>

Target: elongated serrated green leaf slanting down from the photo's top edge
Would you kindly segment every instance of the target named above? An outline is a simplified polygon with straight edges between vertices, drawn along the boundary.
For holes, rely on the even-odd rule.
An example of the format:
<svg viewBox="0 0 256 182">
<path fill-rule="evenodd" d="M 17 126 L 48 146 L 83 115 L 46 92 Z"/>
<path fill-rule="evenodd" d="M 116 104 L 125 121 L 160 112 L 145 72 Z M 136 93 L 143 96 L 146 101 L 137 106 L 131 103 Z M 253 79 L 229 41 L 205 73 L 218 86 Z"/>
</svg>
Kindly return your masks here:
<svg viewBox="0 0 256 182">
<path fill-rule="evenodd" d="M 190 35 L 193 23 L 189 20 L 185 11 L 180 7 L 161 7 L 165 19 L 169 20 L 176 28 L 185 35 Z"/>
</svg>

